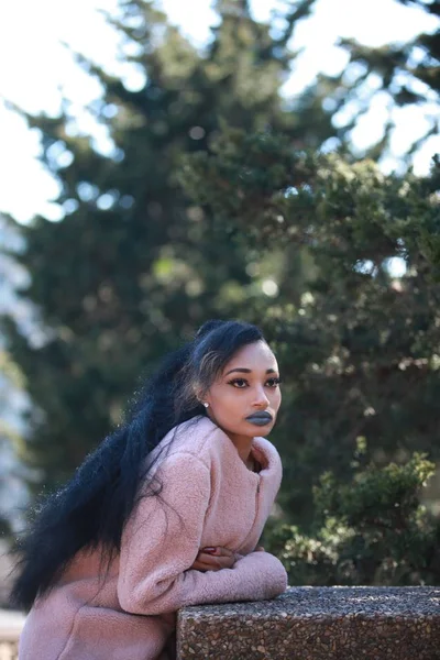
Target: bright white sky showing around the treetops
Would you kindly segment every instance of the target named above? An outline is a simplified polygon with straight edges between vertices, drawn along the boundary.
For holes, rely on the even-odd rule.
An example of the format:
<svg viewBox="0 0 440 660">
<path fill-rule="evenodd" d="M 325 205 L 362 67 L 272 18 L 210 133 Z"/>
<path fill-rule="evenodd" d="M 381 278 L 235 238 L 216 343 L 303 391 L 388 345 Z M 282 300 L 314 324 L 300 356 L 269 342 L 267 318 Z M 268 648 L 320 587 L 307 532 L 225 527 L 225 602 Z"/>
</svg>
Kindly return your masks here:
<svg viewBox="0 0 440 660">
<path fill-rule="evenodd" d="M 210 36 L 209 26 L 216 24 L 218 18 L 210 0 L 189 2 L 162 0 L 161 4 L 170 21 L 202 47 Z M 262 21 L 270 19 L 271 10 L 283 6 L 282 0 L 251 2 L 254 16 Z M 99 97 L 99 85 L 74 63 L 65 44 L 109 73 L 120 75 L 129 88 L 140 88 L 142 76 L 118 59 L 118 35 L 99 13 L 99 10 L 111 13 L 116 9 L 117 0 L 0 3 L 0 211 L 11 213 L 19 222 L 28 222 L 35 213 L 58 221 L 62 215 L 54 202 L 58 186 L 37 161 L 38 134 L 30 130 L 6 101 L 31 113 L 55 114 L 65 96 L 73 102 L 79 130 L 94 135 L 99 151 L 110 153 L 112 145 L 105 129 L 94 123 L 86 110 L 87 105 Z M 305 46 L 305 52 L 283 91 L 289 97 L 299 95 L 319 70 L 327 74 L 342 70 L 346 55 L 334 45 L 338 37 L 355 37 L 366 45 L 381 46 L 406 41 L 421 31 L 432 32 L 437 24 L 436 19 L 421 10 L 404 7 L 396 0 L 318 0 L 315 14 L 298 26 L 290 44 L 294 48 Z M 360 148 L 380 138 L 386 107 L 385 95 L 377 95 L 367 116 L 359 122 L 352 139 Z M 384 161 L 385 172 L 397 167 L 399 155 L 422 134 L 427 122 L 425 113 L 436 111 L 435 101 L 424 110 L 397 110 L 394 155 Z M 437 152 L 440 152 L 438 136 L 431 138 L 416 155 L 416 173 L 425 174 Z"/>
</svg>

